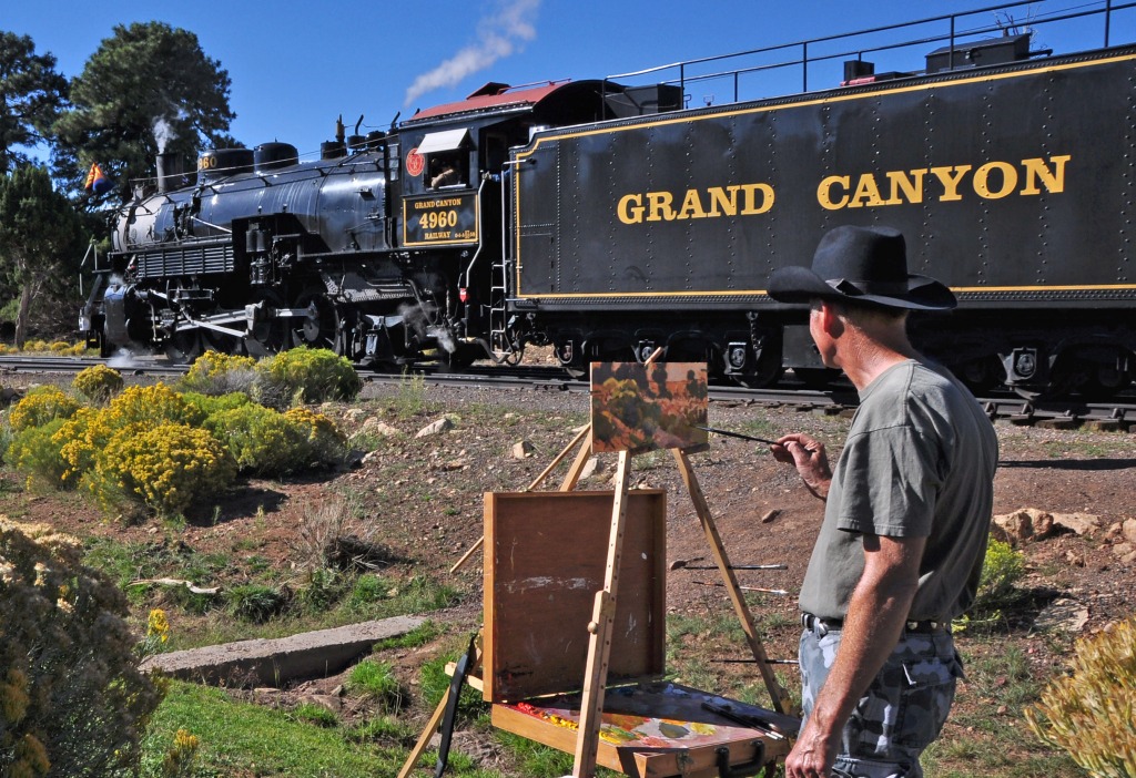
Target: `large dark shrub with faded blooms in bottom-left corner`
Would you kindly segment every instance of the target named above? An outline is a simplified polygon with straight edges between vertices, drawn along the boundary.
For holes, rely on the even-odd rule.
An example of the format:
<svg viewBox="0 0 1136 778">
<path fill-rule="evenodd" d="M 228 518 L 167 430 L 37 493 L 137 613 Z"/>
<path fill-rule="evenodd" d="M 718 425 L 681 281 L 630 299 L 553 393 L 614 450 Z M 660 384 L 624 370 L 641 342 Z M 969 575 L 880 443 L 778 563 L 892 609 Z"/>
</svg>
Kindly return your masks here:
<svg viewBox="0 0 1136 778">
<path fill-rule="evenodd" d="M 0 517 L 0 773 L 131 770 L 164 685 L 139 671 L 123 593 L 77 540 Z"/>
</svg>

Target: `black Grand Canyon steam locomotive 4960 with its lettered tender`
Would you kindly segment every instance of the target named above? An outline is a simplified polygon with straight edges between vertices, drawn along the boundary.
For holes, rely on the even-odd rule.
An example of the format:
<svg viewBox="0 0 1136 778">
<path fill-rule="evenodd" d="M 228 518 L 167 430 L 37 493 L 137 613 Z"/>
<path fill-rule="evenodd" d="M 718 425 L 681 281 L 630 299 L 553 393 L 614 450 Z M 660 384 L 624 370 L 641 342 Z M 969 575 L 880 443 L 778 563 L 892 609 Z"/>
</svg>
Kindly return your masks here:
<svg viewBox="0 0 1136 778">
<path fill-rule="evenodd" d="M 1136 6 L 1110 5 L 1113 27 Z M 830 227 L 879 223 L 958 295 L 911 333 L 972 387 L 1118 391 L 1136 370 L 1136 45 L 1053 56 L 938 18 L 951 35 L 919 70 L 858 56 L 817 91 L 688 108 L 682 82 L 490 83 L 389 132 L 340 124 L 316 161 L 217 149 L 186 176 L 159 158 L 81 328 L 105 354 L 177 360 L 308 345 L 459 366 L 538 344 L 583 371 L 661 347 L 747 386 L 819 383 L 807 319 L 767 279 Z"/>
</svg>

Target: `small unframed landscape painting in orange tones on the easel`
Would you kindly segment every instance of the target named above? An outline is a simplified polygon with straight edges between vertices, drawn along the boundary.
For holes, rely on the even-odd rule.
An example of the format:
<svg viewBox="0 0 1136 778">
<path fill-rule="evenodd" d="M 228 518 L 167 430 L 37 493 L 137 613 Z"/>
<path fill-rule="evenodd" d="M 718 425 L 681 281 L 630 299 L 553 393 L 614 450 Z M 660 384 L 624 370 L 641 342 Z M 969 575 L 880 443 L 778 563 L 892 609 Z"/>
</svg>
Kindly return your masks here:
<svg viewBox="0 0 1136 778">
<path fill-rule="evenodd" d="M 592 363 L 592 450 L 644 454 L 707 447 L 707 366 Z"/>
</svg>

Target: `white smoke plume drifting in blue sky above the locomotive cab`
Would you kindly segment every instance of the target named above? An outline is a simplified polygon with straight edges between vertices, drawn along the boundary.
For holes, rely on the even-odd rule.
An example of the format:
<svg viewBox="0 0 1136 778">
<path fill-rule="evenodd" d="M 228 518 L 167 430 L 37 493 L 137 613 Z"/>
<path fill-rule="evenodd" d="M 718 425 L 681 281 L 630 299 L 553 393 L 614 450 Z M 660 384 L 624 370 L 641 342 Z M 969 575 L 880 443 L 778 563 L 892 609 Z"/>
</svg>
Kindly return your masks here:
<svg viewBox="0 0 1136 778">
<path fill-rule="evenodd" d="M 541 0 L 502 0 L 495 14 L 478 22 L 476 43 L 415 78 L 407 90 L 406 104 L 410 105 L 427 92 L 453 86 L 466 76 L 519 51 L 525 42 L 536 37 L 533 22 L 540 7 Z"/>
</svg>

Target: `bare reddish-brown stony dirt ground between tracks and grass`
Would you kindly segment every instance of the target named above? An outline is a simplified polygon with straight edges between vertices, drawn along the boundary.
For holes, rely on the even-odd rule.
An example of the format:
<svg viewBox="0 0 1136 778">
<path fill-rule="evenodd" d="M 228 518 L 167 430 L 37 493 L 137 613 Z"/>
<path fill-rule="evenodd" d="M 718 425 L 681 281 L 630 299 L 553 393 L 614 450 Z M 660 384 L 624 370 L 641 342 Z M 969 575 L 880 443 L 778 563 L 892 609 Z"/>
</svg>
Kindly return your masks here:
<svg viewBox="0 0 1136 778">
<path fill-rule="evenodd" d="M 535 479 L 586 423 L 587 396 L 427 386 L 421 390 L 425 408 L 420 413 L 411 415 L 404 407 L 395 413 L 399 396 L 406 391 L 396 383 L 373 383 L 358 403 L 325 408 L 350 433 L 366 431 L 357 440 L 369 440 L 376 448 L 374 454 L 360 456 L 354 467 L 308 479 L 247 483 L 225 497 L 218 514 L 191 521 L 182 533 L 183 542 L 202 552 L 254 552 L 281 569 L 294 569 L 301 563 L 298 555 L 304 546 L 301 535 L 306 522 L 321 504 L 349 499 L 365 517 L 361 521 L 369 536 L 390 550 L 392 574 L 425 573 L 466 594 L 461 606 L 433 618 L 458 629 L 476 628 L 481 620 L 481 555 L 474 555 L 457 573 L 449 570 L 482 535 L 483 492 L 521 490 Z M 415 437 L 446 414 L 453 421 L 452 429 Z M 399 434 L 376 433 L 378 421 Z M 762 437 L 809 432 L 829 443 L 834 462 L 847 429 L 846 418 L 819 409 L 722 401 L 711 403 L 710 424 Z M 1124 522 L 1136 516 L 1131 502 L 1136 493 L 1136 434 L 1039 430 L 1002 422 L 996 426 L 1001 441 L 996 514 L 1038 508 L 1097 517 L 1099 526 L 1086 534 L 1058 527 L 1044 539 L 1021 544 L 1028 574 L 1019 585 L 1037 593 L 1037 609 L 1013 625 L 1008 640 L 1022 646 L 1033 668 L 1047 676 L 1063 663 L 1061 652 L 1068 651 L 1072 637 L 1134 612 L 1136 561 L 1131 551 L 1136 539 L 1126 544 Z M 515 448 L 525 441 L 531 453 L 518 457 Z M 767 625 L 769 657 L 793 658 L 799 635 L 795 594 L 822 504 L 762 446 L 716 437 L 710 450 L 693 455 L 692 463 L 730 560 L 787 566 L 785 570 L 741 572 L 738 577 L 743 585 L 790 592 L 784 597 L 759 595 L 753 601 L 755 616 Z M 613 455 L 601 456 L 598 472 L 579 488 L 611 488 L 615 465 Z M 556 489 L 566 470 L 567 465 L 561 465 L 553 472 L 546 488 Z M 667 560 L 673 568 L 667 581 L 668 610 L 691 616 L 728 612 L 724 590 L 708 585 L 717 580 L 716 572 L 690 569 L 691 565 L 712 564 L 712 558 L 674 460 L 666 453 L 643 455 L 633 460 L 632 473 L 636 487 L 668 490 Z M 6 477 L 16 476 L 9 473 Z M 107 522 L 75 494 L 27 496 L 5 490 L 0 513 L 50 523 L 80 536 L 114 534 L 147 541 L 159 533 L 153 525 L 124 527 Z M 243 542 L 239 544 L 239 540 Z M 1053 603 L 1061 608 L 1055 617 L 1046 609 Z M 1036 617 L 1050 626 L 1041 628 L 1031 623 Z M 1056 620 L 1045 621 L 1049 618 Z M 960 636 L 960 641 L 966 640 Z M 698 635 L 684 641 L 682 646 L 671 646 L 673 651 L 701 652 L 711 663 L 746 656 L 743 643 L 720 645 L 709 635 L 702 645 Z M 408 667 L 423 658 L 421 650 L 400 657 Z M 727 686 L 736 687 L 746 675 L 751 683 L 757 678 L 752 666 L 712 667 L 720 668 Z M 795 668 L 786 668 L 779 674 L 792 687 Z M 334 682 L 312 682 L 296 692 L 326 692 Z M 959 705 L 982 703 L 975 694 L 968 697 L 963 685 Z"/>
</svg>

